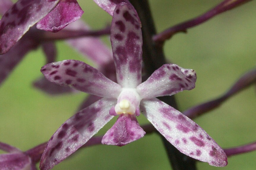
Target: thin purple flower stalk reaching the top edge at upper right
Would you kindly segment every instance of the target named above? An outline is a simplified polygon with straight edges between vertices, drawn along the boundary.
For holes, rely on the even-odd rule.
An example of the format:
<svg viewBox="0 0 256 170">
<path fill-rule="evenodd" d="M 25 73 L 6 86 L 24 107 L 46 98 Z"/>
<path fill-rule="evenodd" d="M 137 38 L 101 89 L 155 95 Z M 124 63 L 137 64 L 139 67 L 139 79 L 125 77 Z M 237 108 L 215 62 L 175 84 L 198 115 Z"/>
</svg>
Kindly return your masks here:
<svg viewBox="0 0 256 170">
<path fill-rule="evenodd" d="M 163 43 L 165 40 L 171 38 L 174 34 L 178 32 L 187 33 L 188 28 L 195 27 L 203 22 L 206 22 L 212 17 L 218 14 L 221 14 L 222 12 L 238 7 L 249 1 L 251 0 L 225 0 L 222 3 L 218 4 L 216 7 L 214 7 L 213 9 L 206 12 L 205 14 L 200 15 L 199 17 L 193 18 L 186 22 L 182 22 L 178 25 L 168 28 L 162 33 L 154 35 L 153 40 L 159 43 Z"/>
</svg>

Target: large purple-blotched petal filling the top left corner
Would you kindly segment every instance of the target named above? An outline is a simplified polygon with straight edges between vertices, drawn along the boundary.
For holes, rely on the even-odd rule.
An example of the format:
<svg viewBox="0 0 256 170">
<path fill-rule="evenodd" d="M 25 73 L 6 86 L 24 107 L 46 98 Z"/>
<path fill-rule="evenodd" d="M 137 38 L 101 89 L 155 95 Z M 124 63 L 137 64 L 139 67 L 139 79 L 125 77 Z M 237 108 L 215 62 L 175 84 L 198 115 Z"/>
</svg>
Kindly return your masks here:
<svg viewBox="0 0 256 170">
<path fill-rule="evenodd" d="M 0 54 L 6 53 L 58 1 L 19 0 L 0 21 Z"/>
</svg>

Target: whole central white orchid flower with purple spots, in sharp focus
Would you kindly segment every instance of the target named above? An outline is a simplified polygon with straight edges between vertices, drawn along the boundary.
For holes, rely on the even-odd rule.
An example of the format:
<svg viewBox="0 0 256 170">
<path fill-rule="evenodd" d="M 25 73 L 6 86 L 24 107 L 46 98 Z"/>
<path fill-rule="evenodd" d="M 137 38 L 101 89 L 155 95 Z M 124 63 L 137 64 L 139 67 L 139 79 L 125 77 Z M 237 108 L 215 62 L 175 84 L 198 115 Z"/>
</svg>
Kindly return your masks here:
<svg viewBox="0 0 256 170">
<path fill-rule="evenodd" d="M 117 82 L 82 61 L 64 60 L 42 67 L 47 80 L 103 97 L 68 119 L 53 134 L 40 168 L 51 169 L 84 145 L 114 116 L 116 123 L 103 144 L 123 146 L 145 135 L 137 122 L 140 112 L 182 153 L 213 166 L 226 166 L 223 149 L 195 122 L 156 97 L 195 88 L 196 73 L 164 64 L 141 83 L 142 33 L 134 8 L 117 4 L 111 23 L 111 45 Z"/>
</svg>

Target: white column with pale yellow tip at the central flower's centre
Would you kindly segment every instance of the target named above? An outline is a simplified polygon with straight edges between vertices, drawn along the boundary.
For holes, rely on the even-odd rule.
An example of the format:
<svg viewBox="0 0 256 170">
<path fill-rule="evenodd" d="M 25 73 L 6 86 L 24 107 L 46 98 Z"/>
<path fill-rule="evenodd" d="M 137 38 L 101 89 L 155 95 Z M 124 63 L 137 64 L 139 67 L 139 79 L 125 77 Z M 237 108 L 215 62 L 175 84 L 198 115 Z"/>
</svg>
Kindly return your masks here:
<svg viewBox="0 0 256 170">
<path fill-rule="evenodd" d="M 135 88 L 123 88 L 117 98 L 116 114 L 135 114 L 140 105 L 140 95 Z"/>
</svg>

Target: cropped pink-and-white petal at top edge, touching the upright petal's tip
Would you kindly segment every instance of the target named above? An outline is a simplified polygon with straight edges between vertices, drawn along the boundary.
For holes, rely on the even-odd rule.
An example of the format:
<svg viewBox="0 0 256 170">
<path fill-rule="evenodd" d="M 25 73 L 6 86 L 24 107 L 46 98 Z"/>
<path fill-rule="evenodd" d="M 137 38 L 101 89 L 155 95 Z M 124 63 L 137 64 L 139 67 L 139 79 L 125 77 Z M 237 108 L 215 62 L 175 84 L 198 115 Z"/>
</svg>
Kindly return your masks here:
<svg viewBox="0 0 256 170">
<path fill-rule="evenodd" d="M 111 16 L 113 16 L 117 4 L 120 4 L 121 2 L 125 2 L 132 6 L 129 0 L 94 0 L 94 2 L 99 5 L 99 7 L 108 12 Z"/>
</svg>

